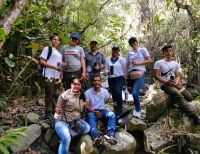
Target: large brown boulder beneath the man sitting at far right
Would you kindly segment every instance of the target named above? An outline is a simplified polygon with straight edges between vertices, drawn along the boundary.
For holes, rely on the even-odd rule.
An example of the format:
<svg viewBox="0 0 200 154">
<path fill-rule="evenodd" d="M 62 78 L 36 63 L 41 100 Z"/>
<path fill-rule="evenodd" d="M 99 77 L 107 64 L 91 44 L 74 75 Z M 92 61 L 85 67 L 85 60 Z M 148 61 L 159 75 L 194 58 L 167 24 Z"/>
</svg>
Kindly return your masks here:
<svg viewBox="0 0 200 154">
<path fill-rule="evenodd" d="M 170 106 L 170 97 L 162 91 L 155 94 L 146 107 L 146 118 L 149 122 L 156 121 Z"/>
</svg>

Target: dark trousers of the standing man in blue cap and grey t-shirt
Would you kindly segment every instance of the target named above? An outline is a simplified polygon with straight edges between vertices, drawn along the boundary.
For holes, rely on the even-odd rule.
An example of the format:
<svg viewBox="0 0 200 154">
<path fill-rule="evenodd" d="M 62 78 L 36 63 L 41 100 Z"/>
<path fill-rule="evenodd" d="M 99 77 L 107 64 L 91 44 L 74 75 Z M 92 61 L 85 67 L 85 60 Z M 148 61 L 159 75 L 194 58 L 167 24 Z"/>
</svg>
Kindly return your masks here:
<svg viewBox="0 0 200 154">
<path fill-rule="evenodd" d="M 71 78 L 72 76 L 76 76 L 79 79 L 81 78 L 81 70 L 75 71 L 75 72 L 63 72 L 63 86 L 65 90 L 68 90 L 71 88 Z"/>
</svg>

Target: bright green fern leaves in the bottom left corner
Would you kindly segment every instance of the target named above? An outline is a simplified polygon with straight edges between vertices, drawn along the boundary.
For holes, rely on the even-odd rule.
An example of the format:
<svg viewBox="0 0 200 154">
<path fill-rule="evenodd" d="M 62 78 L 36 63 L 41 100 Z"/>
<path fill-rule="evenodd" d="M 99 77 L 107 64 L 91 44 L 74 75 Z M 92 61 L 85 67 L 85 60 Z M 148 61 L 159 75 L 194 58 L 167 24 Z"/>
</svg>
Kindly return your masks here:
<svg viewBox="0 0 200 154">
<path fill-rule="evenodd" d="M 13 130 L 9 130 L 0 136 L 0 151 L 3 154 L 9 154 L 8 147 L 11 144 L 19 145 L 20 142 L 16 139 L 17 136 L 26 136 L 23 131 L 26 127 L 20 127 Z"/>
</svg>

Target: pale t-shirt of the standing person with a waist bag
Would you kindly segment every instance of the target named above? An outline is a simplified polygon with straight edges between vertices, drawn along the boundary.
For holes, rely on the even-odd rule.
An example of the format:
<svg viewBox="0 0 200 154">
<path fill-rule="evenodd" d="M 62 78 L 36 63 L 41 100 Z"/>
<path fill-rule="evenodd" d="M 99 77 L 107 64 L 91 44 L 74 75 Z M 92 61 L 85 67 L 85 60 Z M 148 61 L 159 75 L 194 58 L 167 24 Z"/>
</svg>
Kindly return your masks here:
<svg viewBox="0 0 200 154">
<path fill-rule="evenodd" d="M 146 71 L 145 65 L 134 65 L 132 61 L 144 61 L 145 58 L 149 57 L 149 52 L 145 48 L 138 48 L 136 52 L 130 51 L 128 52 L 128 56 L 126 58 L 126 64 L 129 65 L 128 70 L 132 71 L 134 69 Z"/>
</svg>

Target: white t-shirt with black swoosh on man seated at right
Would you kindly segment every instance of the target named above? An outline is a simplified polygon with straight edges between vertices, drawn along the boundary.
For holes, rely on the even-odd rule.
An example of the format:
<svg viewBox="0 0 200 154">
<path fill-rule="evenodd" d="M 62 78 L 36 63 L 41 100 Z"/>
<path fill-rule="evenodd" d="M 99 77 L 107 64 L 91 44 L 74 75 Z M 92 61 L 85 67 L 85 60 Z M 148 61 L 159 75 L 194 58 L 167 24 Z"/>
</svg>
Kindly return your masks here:
<svg viewBox="0 0 200 154">
<path fill-rule="evenodd" d="M 182 72 L 176 61 L 166 61 L 165 59 L 156 61 L 153 69 L 160 70 L 161 76 L 166 80 L 170 80 L 170 76 L 175 77 L 175 73 Z"/>
</svg>

